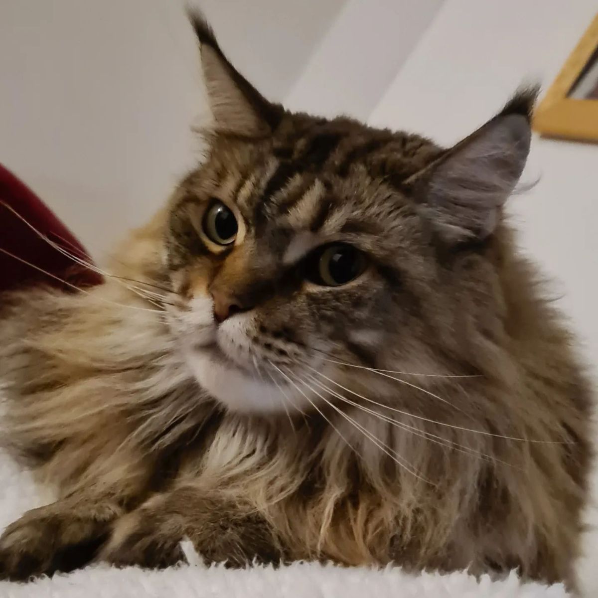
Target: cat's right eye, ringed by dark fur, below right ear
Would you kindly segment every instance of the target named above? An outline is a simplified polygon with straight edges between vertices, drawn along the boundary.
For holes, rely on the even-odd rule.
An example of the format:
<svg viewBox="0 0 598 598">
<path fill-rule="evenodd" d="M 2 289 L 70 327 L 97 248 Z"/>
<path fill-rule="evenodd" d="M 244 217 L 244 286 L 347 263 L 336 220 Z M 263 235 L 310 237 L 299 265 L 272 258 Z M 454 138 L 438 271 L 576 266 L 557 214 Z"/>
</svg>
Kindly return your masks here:
<svg viewBox="0 0 598 598">
<path fill-rule="evenodd" d="M 346 285 L 362 274 L 366 266 L 365 255 L 359 249 L 346 243 L 334 243 L 316 251 L 308 277 L 318 285 Z"/>
</svg>

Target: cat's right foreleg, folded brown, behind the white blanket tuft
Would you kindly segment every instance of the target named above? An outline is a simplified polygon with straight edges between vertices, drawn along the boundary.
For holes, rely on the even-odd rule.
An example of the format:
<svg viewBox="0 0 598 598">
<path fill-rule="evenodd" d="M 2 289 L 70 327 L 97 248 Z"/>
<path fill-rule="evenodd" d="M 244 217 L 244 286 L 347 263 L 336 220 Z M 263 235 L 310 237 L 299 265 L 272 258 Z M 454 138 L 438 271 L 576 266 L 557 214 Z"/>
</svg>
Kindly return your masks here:
<svg viewBox="0 0 598 598">
<path fill-rule="evenodd" d="M 181 486 L 152 497 L 118 520 L 98 559 L 118 566 L 163 568 L 185 560 L 180 546 L 185 538 L 206 563 L 243 567 L 284 558 L 276 535 L 255 510 Z"/>
</svg>

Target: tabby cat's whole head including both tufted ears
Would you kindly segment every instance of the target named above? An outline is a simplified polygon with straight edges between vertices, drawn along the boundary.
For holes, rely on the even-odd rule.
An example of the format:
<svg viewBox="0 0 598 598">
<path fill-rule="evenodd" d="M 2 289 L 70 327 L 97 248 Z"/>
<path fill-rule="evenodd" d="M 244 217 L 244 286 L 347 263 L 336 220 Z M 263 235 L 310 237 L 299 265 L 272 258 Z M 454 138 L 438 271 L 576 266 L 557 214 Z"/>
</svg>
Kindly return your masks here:
<svg viewBox="0 0 598 598">
<path fill-rule="evenodd" d="M 443 149 L 285 111 L 193 23 L 213 127 L 170 203 L 166 268 L 170 328 L 200 385 L 231 410 L 284 413 L 356 399 L 343 388 L 394 400 L 367 368 L 475 370 L 501 318 L 495 240 L 533 92 Z"/>
</svg>

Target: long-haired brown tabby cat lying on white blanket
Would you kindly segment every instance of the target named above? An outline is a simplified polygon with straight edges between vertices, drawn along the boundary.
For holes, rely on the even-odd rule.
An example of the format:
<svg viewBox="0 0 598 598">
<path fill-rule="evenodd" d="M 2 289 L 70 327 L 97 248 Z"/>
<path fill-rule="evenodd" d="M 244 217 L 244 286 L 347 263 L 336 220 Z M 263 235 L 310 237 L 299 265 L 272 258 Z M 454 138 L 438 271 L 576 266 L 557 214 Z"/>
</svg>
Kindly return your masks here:
<svg viewBox="0 0 598 598">
<path fill-rule="evenodd" d="M 4 531 L 0 578 L 188 538 L 573 586 L 591 389 L 504 214 L 536 91 L 446 149 L 286 111 L 191 22 L 205 160 L 101 285 L 4 297 L 4 444 L 59 498 Z"/>
</svg>

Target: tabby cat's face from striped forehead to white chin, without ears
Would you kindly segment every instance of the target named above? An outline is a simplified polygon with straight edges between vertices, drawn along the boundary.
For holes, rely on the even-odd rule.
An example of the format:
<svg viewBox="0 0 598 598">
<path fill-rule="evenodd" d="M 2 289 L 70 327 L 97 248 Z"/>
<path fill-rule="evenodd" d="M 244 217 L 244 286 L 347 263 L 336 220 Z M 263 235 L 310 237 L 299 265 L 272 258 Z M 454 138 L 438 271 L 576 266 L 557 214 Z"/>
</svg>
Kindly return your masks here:
<svg viewBox="0 0 598 598">
<path fill-rule="evenodd" d="M 282 135 L 215 142 L 170 214 L 188 362 L 242 410 L 309 408 L 312 368 L 337 380 L 327 359 L 380 367 L 381 347 L 416 309 L 405 273 L 425 268 L 419 216 L 364 160 L 380 167 L 403 143 L 419 170 L 434 145 L 347 120 L 285 118 Z"/>
</svg>

